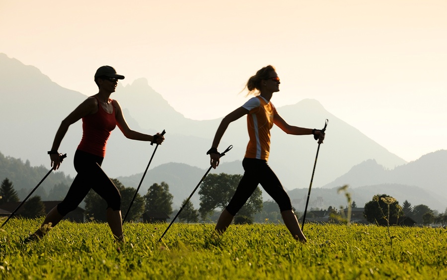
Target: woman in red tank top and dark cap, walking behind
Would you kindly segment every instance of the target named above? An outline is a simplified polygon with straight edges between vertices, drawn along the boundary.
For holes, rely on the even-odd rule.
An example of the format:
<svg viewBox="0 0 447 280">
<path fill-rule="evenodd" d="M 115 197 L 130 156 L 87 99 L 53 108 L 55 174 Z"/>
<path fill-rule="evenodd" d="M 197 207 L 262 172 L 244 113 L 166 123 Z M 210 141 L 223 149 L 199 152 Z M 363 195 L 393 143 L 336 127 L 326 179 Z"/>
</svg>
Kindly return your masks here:
<svg viewBox="0 0 447 280">
<path fill-rule="evenodd" d="M 48 152 L 51 166 L 57 170 L 61 165 L 62 154 L 58 152 L 58 148 L 62 139 L 69 126 L 82 119 L 82 140 L 74 154 L 74 168 L 77 175 L 64 200 L 47 214 L 41 228 L 49 223 L 54 227 L 77 207 L 92 188 L 107 202 L 107 222 L 113 236 L 117 241 L 124 241 L 120 209 L 121 194 L 101 169 L 107 139 L 115 126 L 119 127 L 124 136 L 133 140 L 154 141 L 156 144 L 161 144 L 164 137 L 159 133 L 152 136 L 129 128 L 120 104 L 110 99 L 110 94 L 115 92 L 118 80 L 124 79 L 124 76 L 118 75 L 113 67 L 102 66 L 98 68 L 94 78 L 99 92 L 85 99 L 62 121 L 56 132 L 53 146 Z M 45 233 L 41 231 L 41 228 L 28 239 L 43 237 Z"/>
</svg>

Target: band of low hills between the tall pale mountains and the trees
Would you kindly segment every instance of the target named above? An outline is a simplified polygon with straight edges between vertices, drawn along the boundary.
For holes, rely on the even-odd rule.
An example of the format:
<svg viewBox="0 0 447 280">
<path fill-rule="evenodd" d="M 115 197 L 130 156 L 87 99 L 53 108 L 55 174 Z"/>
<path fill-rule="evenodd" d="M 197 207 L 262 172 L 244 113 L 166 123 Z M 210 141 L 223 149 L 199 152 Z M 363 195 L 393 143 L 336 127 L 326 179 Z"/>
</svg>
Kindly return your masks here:
<svg viewBox="0 0 447 280">
<path fill-rule="evenodd" d="M 445 151 L 439 151 L 436 152 L 435 155 L 429 154 L 423 156 L 416 162 L 422 169 L 424 169 L 433 164 L 436 165 L 437 162 L 441 160 L 441 157 L 445 156 Z M 401 173 L 401 170 L 406 169 L 408 174 L 405 175 L 404 173 L 401 173 L 398 178 L 411 177 L 411 172 L 416 162 L 399 167 L 399 173 Z M 234 169 L 234 167 L 239 166 L 239 164 L 222 163 L 220 169 L 211 170 L 210 173 L 240 174 L 240 170 Z M 20 159 L 5 157 L 0 153 L 0 179 L 4 180 L 5 178 L 8 178 L 13 183 L 14 189 L 17 190 L 20 199 L 23 199 L 47 172 L 48 169 L 44 166 L 33 167 L 30 166 L 29 161 L 23 162 Z M 197 186 L 205 172 L 205 169 L 181 163 L 162 164 L 148 171 L 139 193 L 144 195 L 152 184 L 166 182 L 169 185 L 170 192 L 174 196 L 173 207 L 178 208 L 181 206 L 183 199 L 187 198 L 194 187 Z M 343 194 L 338 194 L 337 189 L 343 184 L 348 184 L 350 185 L 348 191 L 350 192 L 352 199 L 356 201 L 358 207 L 363 207 L 366 202 L 372 199 L 373 195 L 386 193 L 395 197 L 401 204 L 403 201 L 408 200 L 413 206 L 425 204 L 431 209 L 444 212 L 444 209 L 446 208 L 446 198 L 443 198 L 439 193 L 414 185 L 377 183 L 384 182 L 383 180 L 370 181 L 377 176 L 379 178 L 392 178 L 392 176 L 385 175 L 392 172 L 392 170 L 386 170 L 382 166 L 377 165 L 374 161 L 366 161 L 353 167 L 348 174 L 337 179 L 339 182 L 333 182 L 328 186 L 325 186 L 325 188 L 313 187 L 309 200 L 309 209 L 327 209 L 329 206 L 335 208 L 338 208 L 339 206 L 345 207 L 347 203 L 346 198 Z M 117 179 L 126 187 L 136 188 L 140 184 L 142 176 L 143 172 L 132 176 L 118 177 Z M 442 180 L 439 177 L 443 177 L 444 174 L 434 173 L 430 174 L 430 176 L 432 177 L 431 179 L 433 182 L 437 182 Z M 356 177 L 362 178 L 363 181 L 350 179 Z M 66 176 L 64 172 L 53 172 L 34 192 L 34 195 L 40 195 L 43 200 L 61 200 L 65 197 L 72 181 L 73 178 Z M 297 211 L 302 212 L 304 210 L 308 188 L 295 188 L 288 192 Z M 265 192 L 263 192 L 263 199 L 264 201 L 271 200 L 270 196 Z M 192 196 L 191 202 L 196 208 L 200 206 L 198 191 Z"/>
</svg>

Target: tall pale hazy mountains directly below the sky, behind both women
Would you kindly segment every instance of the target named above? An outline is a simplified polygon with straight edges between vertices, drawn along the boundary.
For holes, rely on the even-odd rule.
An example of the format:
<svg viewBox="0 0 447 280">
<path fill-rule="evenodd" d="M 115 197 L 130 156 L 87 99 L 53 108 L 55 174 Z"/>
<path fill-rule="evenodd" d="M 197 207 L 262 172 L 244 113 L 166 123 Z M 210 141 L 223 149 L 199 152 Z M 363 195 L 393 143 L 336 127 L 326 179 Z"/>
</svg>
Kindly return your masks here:
<svg viewBox="0 0 447 280">
<path fill-rule="evenodd" d="M 92 76 L 94 71 L 92 70 Z M 16 59 L 0 54 L 2 131 L 0 151 L 5 156 L 29 160 L 33 166 L 44 165 L 49 168 L 50 160 L 46 151 L 51 148 L 56 130 L 62 119 L 87 97 L 85 94 L 60 87 L 37 68 L 23 65 Z M 166 131 L 166 140 L 154 155 L 142 191 L 147 190 L 151 182 L 169 183 L 169 180 L 178 178 L 175 181 L 180 183 L 170 187 L 178 188 L 176 192 L 179 195 L 186 194 L 182 198 L 177 198 L 178 200 L 186 198 L 203 176 L 202 173 L 209 167 L 209 156 L 206 155 L 206 151 L 211 146 L 221 119 L 185 118 L 175 111 L 161 94 L 156 93 L 145 78 L 137 79 L 126 86 L 118 84 L 117 91 L 111 98 L 116 98 L 120 102 L 131 128 L 149 134 L 161 132 L 163 129 Z M 273 97 L 272 102 L 274 101 Z M 191 103 L 200 109 L 198 104 L 198 101 Z M 228 112 L 233 109 L 235 108 L 228 108 Z M 412 173 L 415 177 L 420 174 L 418 179 L 410 177 L 402 182 L 397 182 L 397 179 L 385 180 L 388 178 L 387 171 L 390 170 L 393 174 L 398 174 L 402 170 L 404 174 L 406 168 L 420 169 L 412 163 L 407 164 L 368 138 L 359 129 L 328 112 L 317 100 L 304 99 L 293 105 L 277 107 L 277 110 L 288 123 L 301 127 L 322 128 L 324 121 L 329 120 L 326 139 L 319 149 L 312 191 L 317 192 L 318 188 L 331 189 L 345 184 L 353 188 L 377 184 L 420 187 L 421 181 L 426 180 L 423 176 L 425 173 L 420 174 L 425 171 Z M 68 155 L 60 170 L 71 176 L 75 175 L 73 155 L 81 135 L 81 122 L 78 121 L 70 127 L 59 150 Z M 243 172 L 241 160 L 247 142 L 246 120 L 240 119 L 231 123 L 219 150 L 223 151 L 229 145 L 233 145 L 233 149 L 222 159 L 221 166 L 212 172 L 241 174 Z M 292 136 L 277 127 L 272 129 L 269 165 L 286 189 L 290 191 L 307 189 L 317 146 L 309 135 Z M 108 142 L 103 169 L 109 177 L 128 180 L 133 182 L 133 187 L 137 187 L 153 149 L 154 146 L 150 146 L 147 142 L 126 139 L 116 129 Z M 368 176 L 363 181 L 350 177 L 350 174 L 356 174 L 356 170 L 363 166 L 366 170 L 370 168 L 371 172 L 376 172 L 375 169 L 380 169 L 377 168 L 379 166 L 383 172 L 373 173 L 374 175 Z M 445 170 L 445 166 L 440 168 Z M 377 180 L 382 176 L 384 180 Z M 153 181 L 155 178 L 157 181 Z M 191 181 L 186 178 L 190 178 Z M 369 179 L 371 181 L 368 181 Z M 444 179 L 439 180 L 442 182 Z M 192 183 L 193 181 L 196 183 Z M 425 187 L 429 186 L 424 185 L 424 189 L 432 191 L 431 188 Z M 444 196 L 445 192 L 442 187 L 440 188 L 434 191 Z M 297 197 L 294 199 L 299 199 L 299 196 Z"/>
</svg>

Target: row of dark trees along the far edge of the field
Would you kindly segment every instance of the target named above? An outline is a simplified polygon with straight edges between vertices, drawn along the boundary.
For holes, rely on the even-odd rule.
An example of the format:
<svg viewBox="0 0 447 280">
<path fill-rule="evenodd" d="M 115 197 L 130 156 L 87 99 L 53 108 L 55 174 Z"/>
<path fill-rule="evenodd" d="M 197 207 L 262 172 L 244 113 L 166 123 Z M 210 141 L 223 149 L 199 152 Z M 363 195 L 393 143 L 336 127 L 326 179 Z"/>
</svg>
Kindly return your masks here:
<svg viewBox="0 0 447 280">
<path fill-rule="evenodd" d="M 200 208 L 195 209 L 191 201 L 182 201 L 182 212 L 178 216 L 180 222 L 199 222 L 215 221 L 222 210 L 231 199 L 236 189 L 241 175 L 210 174 L 200 186 Z M 111 179 L 121 193 L 121 209 L 126 213 L 136 189 L 125 187 L 119 180 Z M 57 186 L 55 186 L 56 188 Z M 65 188 L 65 187 L 64 187 Z M 373 199 L 365 204 L 364 216 L 368 222 L 385 225 L 390 220 L 397 223 L 404 217 L 412 218 L 417 224 L 441 224 L 447 225 L 447 208 L 444 213 L 430 209 L 427 205 L 420 204 L 412 206 L 407 200 L 399 205 L 399 202 L 387 194 L 377 194 Z M 139 221 L 146 213 L 165 213 L 170 216 L 173 212 L 177 213 L 179 209 L 172 208 L 173 195 L 169 192 L 169 186 L 165 182 L 152 184 L 146 194 L 137 193 L 126 219 L 127 221 Z M 12 182 L 6 178 L 2 181 L 0 187 L 0 208 L 4 202 L 18 202 L 19 197 L 13 187 Z M 390 202 L 391 201 L 391 202 Z M 96 192 L 91 190 L 84 199 L 85 216 L 87 220 L 100 222 L 106 221 L 106 202 Z M 356 208 L 356 202 L 353 201 L 352 208 Z M 294 209 L 295 210 L 295 209 Z M 314 209 L 310 209 L 314 210 Z M 39 195 L 30 197 L 23 205 L 21 216 L 34 218 L 44 216 L 45 205 Z M 335 207 L 329 206 L 328 212 L 333 216 L 338 215 Z M 300 213 L 297 213 L 298 217 Z M 279 222 L 281 215 L 279 207 L 274 201 L 262 201 L 262 192 L 258 188 L 248 199 L 242 209 L 234 218 L 235 223 L 252 222 Z"/>
</svg>

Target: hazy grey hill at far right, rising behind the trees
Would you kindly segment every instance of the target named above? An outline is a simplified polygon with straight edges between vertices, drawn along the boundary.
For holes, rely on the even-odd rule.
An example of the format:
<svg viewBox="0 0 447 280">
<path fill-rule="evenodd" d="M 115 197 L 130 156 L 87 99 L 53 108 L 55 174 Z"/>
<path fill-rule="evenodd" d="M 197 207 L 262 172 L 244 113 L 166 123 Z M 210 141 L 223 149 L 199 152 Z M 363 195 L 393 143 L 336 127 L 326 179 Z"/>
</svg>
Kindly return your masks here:
<svg viewBox="0 0 447 280">
<path fill-rule="evenodd" d="M 348 185 L 358 205 L 370 201 L 375 194 L 386 193 L 400 203 L 408 200 L 413 206 L 425 204 L 444 212 L 447 206 L 446 170 L 446 150 L 429 153 L 394 169 L 384 168 L 375 160 L 367 160 L 321 189 L 331 189 L 335 195 L 338 187 Z M 324 200 L 333 199 L 326 197 Z"/>
</svg>

